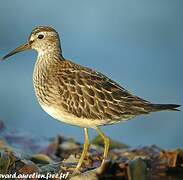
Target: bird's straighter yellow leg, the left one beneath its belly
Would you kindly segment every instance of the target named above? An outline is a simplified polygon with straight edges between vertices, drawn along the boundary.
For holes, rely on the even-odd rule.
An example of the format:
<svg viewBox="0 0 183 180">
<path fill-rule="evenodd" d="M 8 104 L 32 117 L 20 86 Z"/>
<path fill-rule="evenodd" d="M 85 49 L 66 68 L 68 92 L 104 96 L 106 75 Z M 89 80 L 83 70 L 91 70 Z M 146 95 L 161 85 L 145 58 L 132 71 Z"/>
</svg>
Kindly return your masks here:
<svg viewBox="0 0 183 180">
<path fill-rule="evenodd" d="M 83 163 L 83 160 L 87 155 L 88 148 L 89 148 L 89 138 L 88 138 L 88 129 L 87 128 L 84 128 L 84 133 L 85 133 L 85 142 L 84 142 L 84 146 L 83 146 L 83 151 L 82 151 L 81 157 L 79 159 L 79 162 L 75 168 L 75 172 L 79 171 L 79 169 Z"/>
</svg>

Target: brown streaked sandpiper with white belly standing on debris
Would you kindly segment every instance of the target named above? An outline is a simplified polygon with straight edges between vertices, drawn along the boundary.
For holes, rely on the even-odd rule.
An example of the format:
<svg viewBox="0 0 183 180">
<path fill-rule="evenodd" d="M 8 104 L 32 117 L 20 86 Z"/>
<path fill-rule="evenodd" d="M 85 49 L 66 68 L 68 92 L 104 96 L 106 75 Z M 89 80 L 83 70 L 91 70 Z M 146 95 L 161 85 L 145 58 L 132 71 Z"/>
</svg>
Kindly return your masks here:
<svg viewBox="0 0 183 180">
<path fill-rule="evenodd" d="M 54 119 L 84 129 L 83 150 L 75 167 L 80 171 L 89 150 L 88 129 L 97 131 L 104 141 L 101 165 L 105 166 L 110 139 L 101 126 L 130 120 L 157 111 L 179 111 L 177 104 L 154 104 L 144 100 L 106 75 L 64 58 L 58 32 L 50 26 L 34 28 L 28 41 L 5 55 L 33 49 L 37 60 L 33 86 L 42 109 Z"/>
</svg>

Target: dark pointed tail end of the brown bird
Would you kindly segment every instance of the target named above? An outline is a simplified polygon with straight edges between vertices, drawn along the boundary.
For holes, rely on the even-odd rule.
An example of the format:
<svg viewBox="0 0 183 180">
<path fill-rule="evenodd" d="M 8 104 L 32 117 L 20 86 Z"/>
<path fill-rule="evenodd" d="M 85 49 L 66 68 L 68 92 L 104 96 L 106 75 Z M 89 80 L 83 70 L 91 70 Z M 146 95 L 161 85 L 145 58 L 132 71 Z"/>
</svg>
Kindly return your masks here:
<svg viewBox="0 0 183 180">
<path fill-rule="evenodd" d="M 150 111 L 165 111 L 165 110 L 170 110 L 170 111 L 180 111 L 177 109 L 181 105 L 178 104 L 151 104 L 150 105 Z"/>
</svg>

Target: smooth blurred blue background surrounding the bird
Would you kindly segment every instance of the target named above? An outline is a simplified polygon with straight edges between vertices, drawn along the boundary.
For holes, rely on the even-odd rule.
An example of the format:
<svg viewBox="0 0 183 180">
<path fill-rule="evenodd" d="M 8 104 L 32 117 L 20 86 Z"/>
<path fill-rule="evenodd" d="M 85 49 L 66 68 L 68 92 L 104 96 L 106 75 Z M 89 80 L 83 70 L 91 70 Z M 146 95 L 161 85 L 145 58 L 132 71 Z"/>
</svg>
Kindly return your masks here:
<svg viewBox="0 0 183 180">
<path fill-rule="evenodd" d="M 94 68 L 156 103 L 183 105 L 182 0 L 6 0 L 0 2 L 0 56 L 24 43 L 38 25 L 60 34 L 63 55 Z M 53 120 L 32 87 L 36 52 L 0 63 L 0 119 L 38 136 L 83 131 Z M 183 112 L 161 112 L 102 128 L 131 146 L 183 147 Z M 91 137 L 95 132 L 91 131 Z"/>
</svg>

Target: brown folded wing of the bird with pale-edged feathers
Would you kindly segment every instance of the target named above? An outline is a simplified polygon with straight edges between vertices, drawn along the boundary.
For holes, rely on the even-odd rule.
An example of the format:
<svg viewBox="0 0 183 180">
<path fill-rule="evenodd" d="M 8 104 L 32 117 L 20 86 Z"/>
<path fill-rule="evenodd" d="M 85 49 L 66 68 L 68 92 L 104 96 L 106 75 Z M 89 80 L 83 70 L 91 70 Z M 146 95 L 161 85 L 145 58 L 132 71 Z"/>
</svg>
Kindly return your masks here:
<svg viewBox="0 0 183 180">
<path fill-rule="evenodd" d="M 148 113 L 144 108 L 148 101 L 101 73 L 71 63 L 62 62 L 62 71 L 56 73 L 61 105 L 67 112 L 77 117 L 113 120 Z"/>
</svg>

